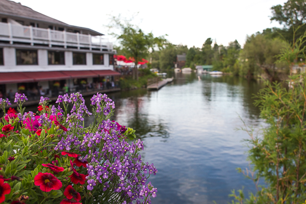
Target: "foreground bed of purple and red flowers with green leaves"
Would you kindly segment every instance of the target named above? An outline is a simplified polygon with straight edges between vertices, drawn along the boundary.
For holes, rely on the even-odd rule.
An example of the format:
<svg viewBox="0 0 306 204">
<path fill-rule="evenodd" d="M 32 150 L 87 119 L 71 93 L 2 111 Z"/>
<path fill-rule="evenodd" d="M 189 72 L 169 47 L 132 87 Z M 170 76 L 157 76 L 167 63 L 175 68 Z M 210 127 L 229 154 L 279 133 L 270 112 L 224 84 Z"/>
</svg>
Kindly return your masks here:
<svg viewBox="0 0 306 204">
<path fill-rule="evenodd" d="M 92 113 L 80 93 L 60 95 L 58 107 L 41 97 L 36 114 L 25 112 L 25 100 L 16 93 L 18 113 L 6 113 L 10 102 L 0 98 L 0 203 L 150 203 L 156 197 L 146 181 L 157 170 L 142 162 L 140 139 L 128 142 L 135 131 L 110 120 L 115 104 L 106 94 L 91 98 Z M 94 117 L 88 127 L 85 115 Z"/>
</svg>

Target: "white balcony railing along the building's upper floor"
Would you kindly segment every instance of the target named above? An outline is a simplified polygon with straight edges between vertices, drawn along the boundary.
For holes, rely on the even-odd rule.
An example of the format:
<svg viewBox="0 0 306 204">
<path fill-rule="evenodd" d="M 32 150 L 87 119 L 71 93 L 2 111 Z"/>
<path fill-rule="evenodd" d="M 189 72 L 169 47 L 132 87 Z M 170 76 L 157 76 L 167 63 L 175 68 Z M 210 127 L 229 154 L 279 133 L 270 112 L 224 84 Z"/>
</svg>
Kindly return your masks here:
<svg viewBox="0 0 306 204">
<path fill-rule="evenodd" d="M 34 44 L 61 45 L 64 47 L 86 47 L 95 49 L 107 49 L 112 51 L 113 44 L 102 36 L 91 36 L 65 31 L 35 28 L 32 26 L 15 25 L 0 22 L 0 40 L 13 42 L 27 42 Z"/>
</svg>

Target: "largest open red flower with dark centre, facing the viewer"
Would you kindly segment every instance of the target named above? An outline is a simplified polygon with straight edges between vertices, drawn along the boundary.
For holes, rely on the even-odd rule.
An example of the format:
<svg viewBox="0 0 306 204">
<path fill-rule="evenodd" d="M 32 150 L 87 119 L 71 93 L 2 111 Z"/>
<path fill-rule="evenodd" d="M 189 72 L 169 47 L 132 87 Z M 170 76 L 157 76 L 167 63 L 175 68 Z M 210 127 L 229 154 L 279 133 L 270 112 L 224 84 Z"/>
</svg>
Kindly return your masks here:
<svg viewBox="0 0 306 204">
<path fill-rule="evenodd" d="M 49 192 L 51 190 L 59 190 L 62 188 L 62 182 L 57 179 L 52 173 L 39 172 L 34 177 L 35 186 L 40 186 L 40 190 Z"/>
</svg>

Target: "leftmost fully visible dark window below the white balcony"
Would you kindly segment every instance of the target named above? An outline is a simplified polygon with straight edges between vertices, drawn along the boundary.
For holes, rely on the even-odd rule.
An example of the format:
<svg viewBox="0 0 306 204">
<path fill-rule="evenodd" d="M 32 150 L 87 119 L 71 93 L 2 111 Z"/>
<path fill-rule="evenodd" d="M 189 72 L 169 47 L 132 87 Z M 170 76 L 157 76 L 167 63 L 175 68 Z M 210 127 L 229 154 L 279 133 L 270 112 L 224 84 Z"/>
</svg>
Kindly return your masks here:
<svg viewBox="0 0 306 204">
<path fill-rule="evenodd" d="M 37 50 L 16 49 L 17 65 L 37 65 Z"/>
</svg>

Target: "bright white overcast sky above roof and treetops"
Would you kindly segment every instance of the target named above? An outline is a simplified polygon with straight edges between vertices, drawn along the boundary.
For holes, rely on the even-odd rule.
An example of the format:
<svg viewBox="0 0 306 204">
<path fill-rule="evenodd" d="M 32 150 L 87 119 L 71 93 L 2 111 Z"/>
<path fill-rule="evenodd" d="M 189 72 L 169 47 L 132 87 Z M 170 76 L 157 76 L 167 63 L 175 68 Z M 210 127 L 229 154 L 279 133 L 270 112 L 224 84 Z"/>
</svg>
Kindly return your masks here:
<svg viewBox="0 0 306 204">
<path fill-rule="evenodd" d="M 16 0 L 23 6 L 71 25 L 108 34 L 109 15 L 129 17 L 144 32 L 165 35 L 173 44 L 201 47 L 207 38 L 228 45 L 243 45 L 247 35 L 281 27 L 270 21 L 272 6 L 286 0 Z M 111 39 L 114 41 L 114 39 Z"/>
</svg>

